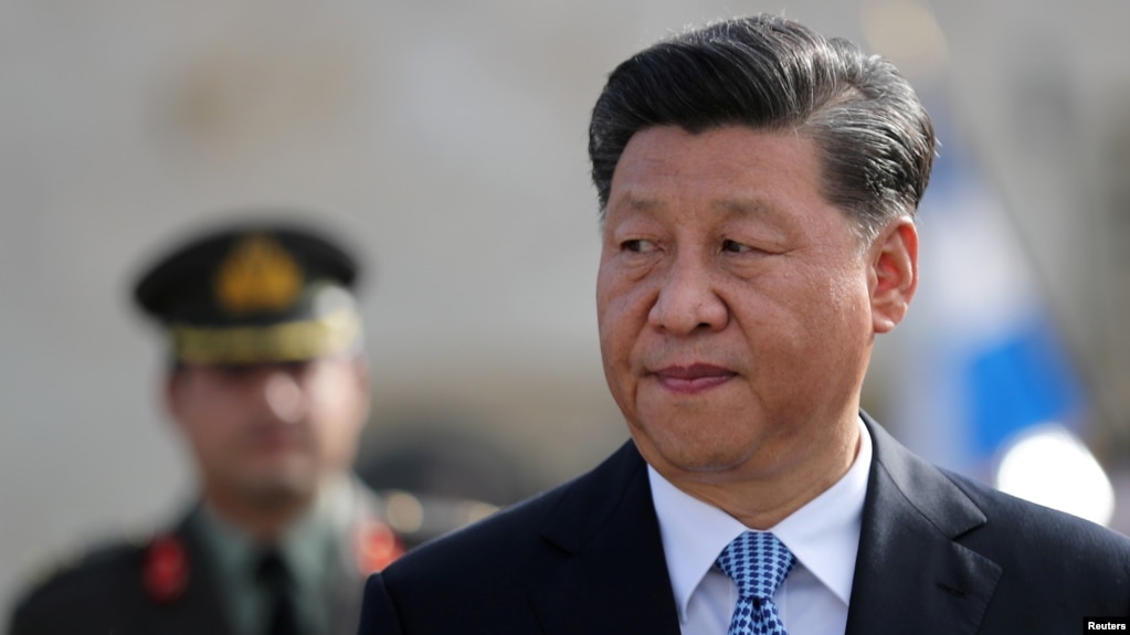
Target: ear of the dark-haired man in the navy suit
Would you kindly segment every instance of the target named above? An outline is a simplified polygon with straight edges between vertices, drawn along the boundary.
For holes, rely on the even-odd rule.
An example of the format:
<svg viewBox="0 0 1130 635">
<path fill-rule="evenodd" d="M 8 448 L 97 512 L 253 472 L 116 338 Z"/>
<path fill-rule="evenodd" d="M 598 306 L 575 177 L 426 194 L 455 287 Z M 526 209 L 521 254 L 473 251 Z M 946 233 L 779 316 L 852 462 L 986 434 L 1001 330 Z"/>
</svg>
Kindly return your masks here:
<svg viewBox="0 0 1130 635">
<path fill-rule="evenodd" d="M 870 250 L 871 323 L 877 333 L 892 330 L 906 315 L 918 289 L 918 228 L 910 218 L 894 220 Z"/>
</svg>

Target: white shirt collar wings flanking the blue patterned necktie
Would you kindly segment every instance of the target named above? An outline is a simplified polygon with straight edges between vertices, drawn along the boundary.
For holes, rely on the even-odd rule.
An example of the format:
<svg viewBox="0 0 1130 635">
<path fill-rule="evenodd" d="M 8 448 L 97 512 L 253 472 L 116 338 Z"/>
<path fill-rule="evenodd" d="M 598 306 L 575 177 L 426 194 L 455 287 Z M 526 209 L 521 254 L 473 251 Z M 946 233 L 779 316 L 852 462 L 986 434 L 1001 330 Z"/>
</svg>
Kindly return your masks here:
<svg viewBox="0 0 1130 635">
<path fill-rule="evenodd" d="M 859 533 L 871 466 L 871 437 L 860 426 L 855 461 L 838 481 L 770 531 L 844 604 L 851 597 Z M 704 503 L 647 467 L 652 502 L 659 517 L 671 590 L 680 619 L 690 595 L 718 555 L 748 528 L 722 510 Z"/>
</svg>

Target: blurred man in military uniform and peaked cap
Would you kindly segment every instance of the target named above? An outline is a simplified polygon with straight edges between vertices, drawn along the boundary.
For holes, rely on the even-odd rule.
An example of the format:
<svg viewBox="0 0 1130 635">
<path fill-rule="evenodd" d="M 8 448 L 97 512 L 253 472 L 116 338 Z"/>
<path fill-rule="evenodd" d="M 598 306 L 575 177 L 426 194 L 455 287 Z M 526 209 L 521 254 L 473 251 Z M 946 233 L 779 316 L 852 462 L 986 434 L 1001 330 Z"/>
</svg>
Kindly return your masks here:
<svg viewBox="0 0 1130 635">
<path fill-rule="evenodd" d="M 401 551 L 350 471 L 370 407 L 357 273 L 319 232 L 268 223 L 146 270 L 134 299 L 167 333 L 164 403 L 199 499 L 33 590 L 12 635 L 356 632 L 365 575 Z"/>
</svg>

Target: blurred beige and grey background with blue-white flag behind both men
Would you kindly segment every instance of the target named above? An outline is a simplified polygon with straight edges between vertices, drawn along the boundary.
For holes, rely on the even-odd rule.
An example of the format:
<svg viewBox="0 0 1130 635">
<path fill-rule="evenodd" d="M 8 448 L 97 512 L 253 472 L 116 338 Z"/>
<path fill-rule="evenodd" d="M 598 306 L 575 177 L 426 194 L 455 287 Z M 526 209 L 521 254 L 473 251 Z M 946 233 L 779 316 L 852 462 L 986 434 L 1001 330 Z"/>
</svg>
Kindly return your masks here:
<svg viewBox="0 0 1130 635">
<path fill-rule="evenodd" d="M 377 486 L 504 505 L 599 461 L 627 436 L 589 108 L 670 31 L 763 10 L 892 58 L 942 138 L 866 407 L 1130 530 L 1128 2 L 0 0 L 0 607 L 192 495 L 128 293 L 233 211 L 308 210 L 364 253 Z"/>
</svg>

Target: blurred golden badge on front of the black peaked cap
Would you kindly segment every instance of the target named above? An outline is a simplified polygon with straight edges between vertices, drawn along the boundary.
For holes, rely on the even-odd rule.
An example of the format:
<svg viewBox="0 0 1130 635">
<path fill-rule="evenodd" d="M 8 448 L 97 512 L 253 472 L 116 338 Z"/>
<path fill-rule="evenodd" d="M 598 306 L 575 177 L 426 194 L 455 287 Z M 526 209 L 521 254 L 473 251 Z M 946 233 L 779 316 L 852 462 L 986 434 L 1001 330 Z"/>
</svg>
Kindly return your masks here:
<svg viewBox="0 0 1130 635">
<path fill-rule="evenodd" d="M 216 277 L 220 307 L 235 314 L 285 311 L 301 290 L 298 263 L 278 241 L 263 235 L 236 243 Z"/>
</svg>

